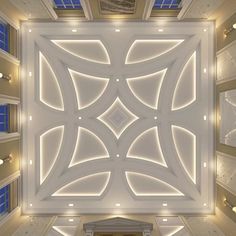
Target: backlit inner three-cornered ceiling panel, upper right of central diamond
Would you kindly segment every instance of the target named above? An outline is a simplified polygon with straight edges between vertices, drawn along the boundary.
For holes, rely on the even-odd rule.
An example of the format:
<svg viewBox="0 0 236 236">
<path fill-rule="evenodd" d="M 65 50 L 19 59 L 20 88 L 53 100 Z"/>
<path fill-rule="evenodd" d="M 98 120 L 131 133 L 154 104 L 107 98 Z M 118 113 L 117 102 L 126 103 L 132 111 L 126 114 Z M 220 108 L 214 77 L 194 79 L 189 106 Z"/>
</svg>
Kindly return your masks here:
<svg viewBox="0 0 236 236">
<path fill-rule="evenodd" d="M 128 86 L 140 102 L 152 109 L 157 109 L 161 85 L 166 71 L 167 69 L 150 75 L 128 78 Z"/>
</svg>

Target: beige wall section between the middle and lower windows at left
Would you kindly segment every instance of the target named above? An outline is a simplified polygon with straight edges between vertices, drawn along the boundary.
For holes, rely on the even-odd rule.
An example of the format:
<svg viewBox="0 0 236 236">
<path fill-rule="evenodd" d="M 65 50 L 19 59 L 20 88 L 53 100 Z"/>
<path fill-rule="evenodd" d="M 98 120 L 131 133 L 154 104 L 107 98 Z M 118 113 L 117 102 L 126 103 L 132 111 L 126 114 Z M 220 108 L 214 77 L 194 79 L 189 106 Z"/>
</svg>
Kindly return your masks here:
<svg viewBox="0 0 236 236">
<path fill-rule="evenodd" d="M 0 166 L 0 180 L 12 175 L 19 170 L 20 141 L 14 140 L 0 143 L 0 158 L 12 154 L 14 161 L 12 163 L 4 163 Z"/>
</svg>

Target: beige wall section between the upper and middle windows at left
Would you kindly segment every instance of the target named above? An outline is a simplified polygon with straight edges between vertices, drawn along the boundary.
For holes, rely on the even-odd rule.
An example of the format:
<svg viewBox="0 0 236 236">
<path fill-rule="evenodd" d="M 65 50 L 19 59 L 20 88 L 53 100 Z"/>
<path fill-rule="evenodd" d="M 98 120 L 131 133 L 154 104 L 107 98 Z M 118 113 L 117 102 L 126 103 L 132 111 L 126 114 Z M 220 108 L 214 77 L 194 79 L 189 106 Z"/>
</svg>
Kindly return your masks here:
<svg viewBox="0 0 236 236">
<path fill-rule="evenodd" d="M 20 97 L 19 67 L 0 56 L 0 72 L 5 75 L 11 75 L 12 79 L 0 80 L 0 94 Z"/>
</svg>

